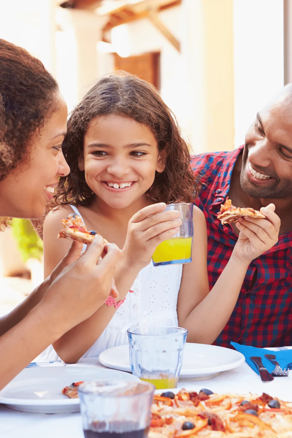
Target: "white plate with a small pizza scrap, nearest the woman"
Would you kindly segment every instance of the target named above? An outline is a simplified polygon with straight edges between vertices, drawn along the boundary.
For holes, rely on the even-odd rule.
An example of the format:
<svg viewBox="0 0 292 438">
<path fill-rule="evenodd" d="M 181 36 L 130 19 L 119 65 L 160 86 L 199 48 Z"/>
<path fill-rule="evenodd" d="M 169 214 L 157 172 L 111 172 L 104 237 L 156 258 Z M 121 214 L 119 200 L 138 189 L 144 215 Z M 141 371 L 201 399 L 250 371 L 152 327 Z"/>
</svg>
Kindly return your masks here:
<svg viewBox="0 0 292 438">
<path fill-rule="evenodd" d="M 23 412 L 78 412 L 80 400 L 64 396 L 62 389 L 72 382 L 105 379 L 139 381 L 122 371 L 84 365 L 25 368 L 0 391 L 0 403 Z"/>
</svg>

